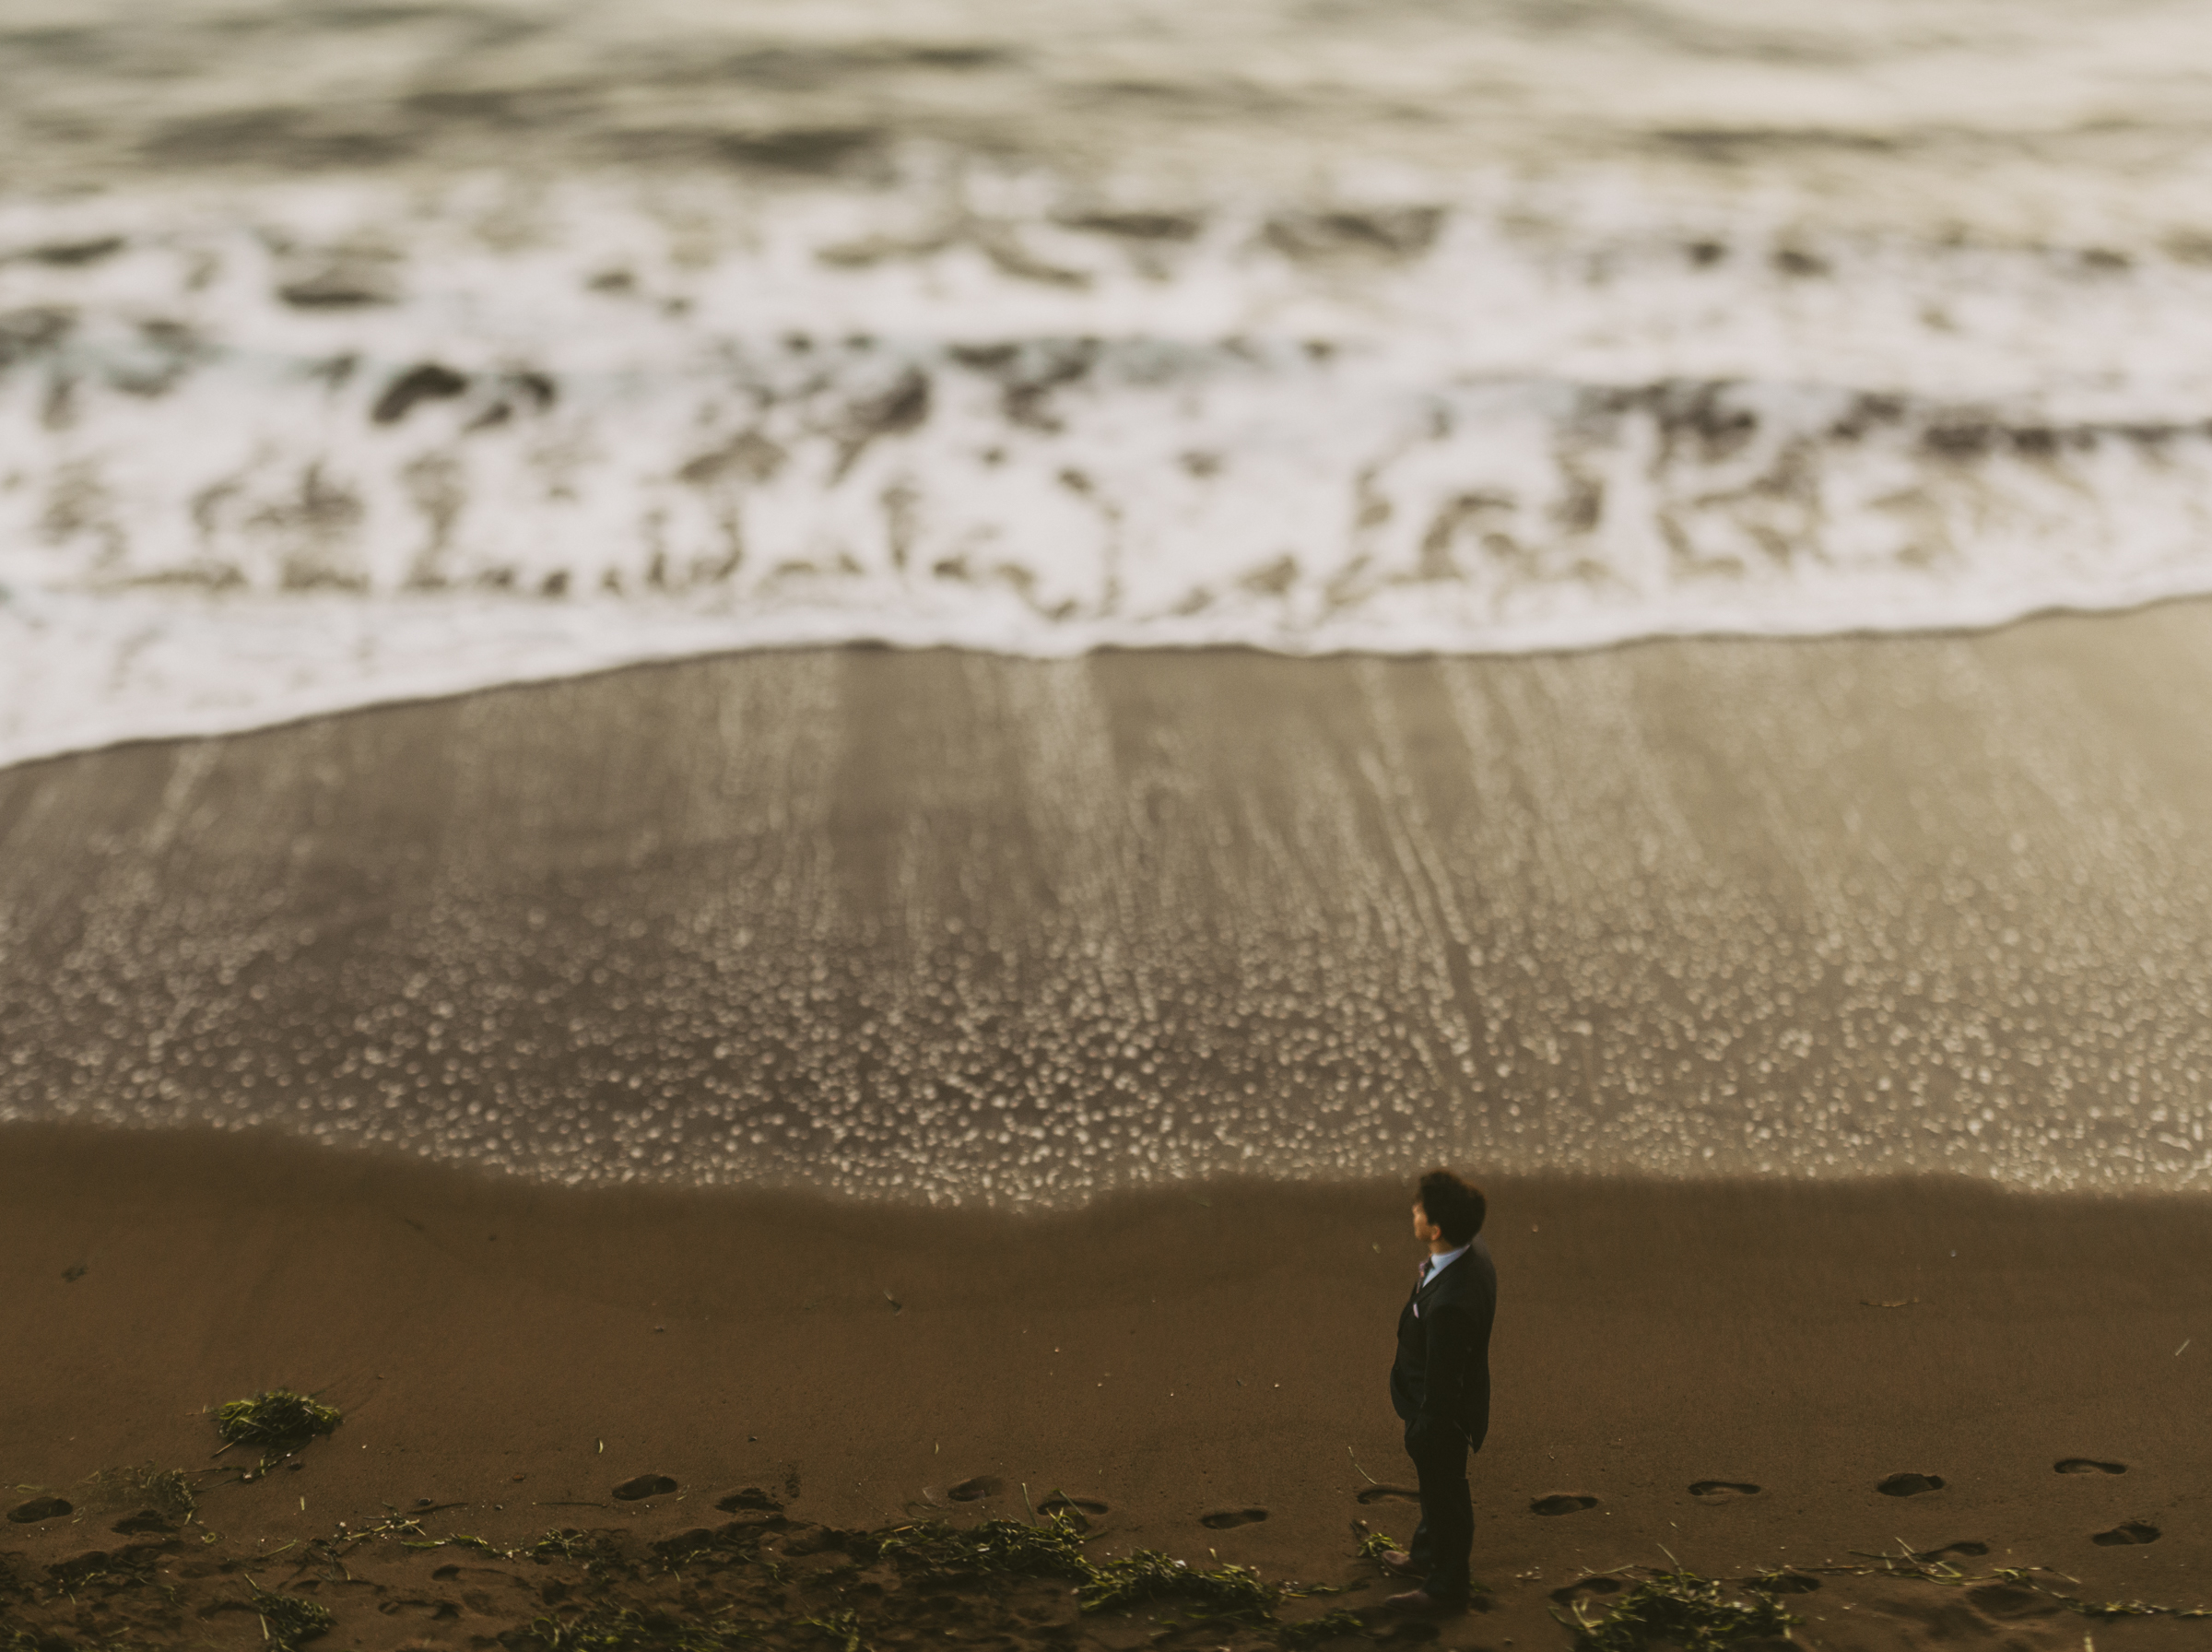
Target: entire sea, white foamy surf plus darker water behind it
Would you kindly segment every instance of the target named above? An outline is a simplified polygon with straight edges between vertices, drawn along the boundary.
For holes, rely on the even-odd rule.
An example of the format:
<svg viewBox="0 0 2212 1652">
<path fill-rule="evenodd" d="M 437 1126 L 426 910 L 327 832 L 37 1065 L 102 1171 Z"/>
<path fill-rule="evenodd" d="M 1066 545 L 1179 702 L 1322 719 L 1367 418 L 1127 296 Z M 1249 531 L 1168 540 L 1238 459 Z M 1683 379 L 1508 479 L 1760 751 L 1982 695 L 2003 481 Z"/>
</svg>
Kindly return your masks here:
<svg viewBox="0 0 2212 1652">
<path fill-rule="evenodd" d="M 2212 590 L 2197 7 L 0 9 L 0 761 Z"/>
</svg>

